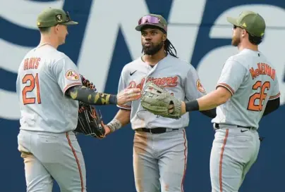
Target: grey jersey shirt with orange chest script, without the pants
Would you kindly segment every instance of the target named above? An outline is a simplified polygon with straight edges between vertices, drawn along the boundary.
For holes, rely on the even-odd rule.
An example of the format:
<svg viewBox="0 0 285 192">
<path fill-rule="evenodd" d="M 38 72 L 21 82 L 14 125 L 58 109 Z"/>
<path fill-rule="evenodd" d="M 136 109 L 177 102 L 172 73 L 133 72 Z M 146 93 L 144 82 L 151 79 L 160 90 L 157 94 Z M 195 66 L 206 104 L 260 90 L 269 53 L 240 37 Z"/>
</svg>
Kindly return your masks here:
<svg viewBox="0 0 285 192">
<path fill-rule="evenodd" d="M 145 82 L 148 81 L 154 82 L 159 87 L 164 87 L 164 89 L 182 101 L 191 101 L 205 95 L 205 89 L 200 83 L 195 68 L 189 63 L 170 55 L 160 60 L 153 68 L 144 63 L 141 58 L 125 65 L 119 79 L 118 91 L 127 87 L 142 89 Z M 181 128 L 188 126 L 188 113 L 179 120 L 157 117 L 157 115 L 142 108 L 140 99 L 118 106 L 119 108 L 131 109 L 131 125 L 133 129 L 141 127 Z"/>
</svg>

